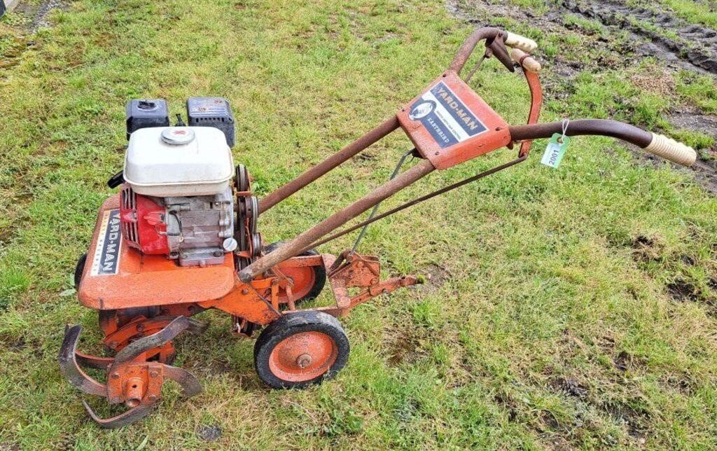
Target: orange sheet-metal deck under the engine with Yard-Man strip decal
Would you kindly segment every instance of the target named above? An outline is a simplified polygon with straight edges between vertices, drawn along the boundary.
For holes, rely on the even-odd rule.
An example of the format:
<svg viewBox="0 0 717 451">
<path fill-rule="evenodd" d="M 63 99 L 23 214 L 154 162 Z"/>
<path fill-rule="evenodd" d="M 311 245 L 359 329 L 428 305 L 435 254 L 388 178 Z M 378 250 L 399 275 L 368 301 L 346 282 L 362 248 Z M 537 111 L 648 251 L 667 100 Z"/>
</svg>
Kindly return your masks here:
<svg viewBox="0 0 717 451">
<path fill-rule="evenodd" d="M 180 267 L 164 255 L 141 255 L 123 242 L 120 197 L 100 208 L 77 297 L 99 310 L 194 303 L 221 298 L 234 287 L 234 261 L 224 265 Z"/>
</svg>

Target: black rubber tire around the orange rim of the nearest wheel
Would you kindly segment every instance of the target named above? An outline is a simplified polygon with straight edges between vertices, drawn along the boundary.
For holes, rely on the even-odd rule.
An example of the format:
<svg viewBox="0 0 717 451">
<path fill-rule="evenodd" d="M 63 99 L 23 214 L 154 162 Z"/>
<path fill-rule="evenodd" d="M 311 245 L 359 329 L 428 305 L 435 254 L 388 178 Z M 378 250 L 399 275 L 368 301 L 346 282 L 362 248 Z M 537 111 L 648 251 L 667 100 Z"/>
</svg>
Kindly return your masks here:
<svg viewBox="0 0 717 451">
<path fill-rule="evenodd" d="M 281 379 L 270 369 L 269 358 L 278 343 L 302 332 L 320 332 L 331 337 L 336 344 L 336 360 L 323 374 L 307 381 L 288 381 Z M 307 386 L 319 384 L 325 379 L 336 376 L 338 371 L 346 366 L 351 346 L 348 337 L 343 331 L 341 323 L 327 313 L 305 310 L 288 313 L 265 328 L 254 344 L 254 366 L 259 378 L 275 389 L 303 389 Z"/>
</svg>

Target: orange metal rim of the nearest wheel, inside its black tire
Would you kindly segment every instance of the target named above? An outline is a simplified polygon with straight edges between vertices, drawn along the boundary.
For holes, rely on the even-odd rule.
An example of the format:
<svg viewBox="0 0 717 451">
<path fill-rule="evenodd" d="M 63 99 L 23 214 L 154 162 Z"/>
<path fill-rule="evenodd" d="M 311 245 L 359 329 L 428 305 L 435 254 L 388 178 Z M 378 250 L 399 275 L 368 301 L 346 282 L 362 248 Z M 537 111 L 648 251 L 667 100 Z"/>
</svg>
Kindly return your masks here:
<svg viewBox="0 0 717 451">
<path fill-rule="evenodd" d="M 323 332 L 300 332 L 280 341 L 269 356 L 269 369 L 284 381 L 310 381 L 336 361 L 336 341 Z"/>
</svg>

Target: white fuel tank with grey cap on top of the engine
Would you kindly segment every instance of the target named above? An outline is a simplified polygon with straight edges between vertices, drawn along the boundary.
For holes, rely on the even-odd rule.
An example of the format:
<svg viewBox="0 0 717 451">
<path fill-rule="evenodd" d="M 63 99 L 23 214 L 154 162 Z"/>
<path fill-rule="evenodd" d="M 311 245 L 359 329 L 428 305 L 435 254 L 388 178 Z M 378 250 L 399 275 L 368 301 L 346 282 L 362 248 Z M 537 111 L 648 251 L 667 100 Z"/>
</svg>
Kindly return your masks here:
<svg viewBox="0 0 717 451">
<path fill-rule="evenodd" d="M 217 128 L 141 128 L 130 136 L 124 178 L 137 194 L 157 197 L 222 194 L 233 174 L 232 151 L 224 133 Z"/>
</svg>

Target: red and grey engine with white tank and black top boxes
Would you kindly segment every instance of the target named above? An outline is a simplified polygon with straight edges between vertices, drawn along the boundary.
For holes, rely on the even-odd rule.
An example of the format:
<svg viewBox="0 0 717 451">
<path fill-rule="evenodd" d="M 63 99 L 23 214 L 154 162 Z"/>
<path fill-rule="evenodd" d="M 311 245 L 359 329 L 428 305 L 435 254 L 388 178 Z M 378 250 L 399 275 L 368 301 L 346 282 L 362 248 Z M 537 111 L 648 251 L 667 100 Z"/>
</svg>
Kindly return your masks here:
<svg viewBox="0 0 717 451">
<path fill-rule="evenodd" d="M 181 266 L 224 263 L 224 254 L 238 244 L 229 104 L 219 98 L 190 99 L 192 126 L 166 125 L 163 100 L 132 100 L 127 113 L 129 145 L 120 187 L 125 243 Z"/>
</svg>

